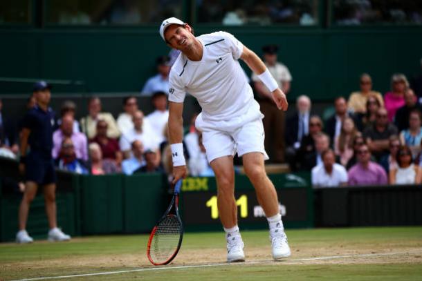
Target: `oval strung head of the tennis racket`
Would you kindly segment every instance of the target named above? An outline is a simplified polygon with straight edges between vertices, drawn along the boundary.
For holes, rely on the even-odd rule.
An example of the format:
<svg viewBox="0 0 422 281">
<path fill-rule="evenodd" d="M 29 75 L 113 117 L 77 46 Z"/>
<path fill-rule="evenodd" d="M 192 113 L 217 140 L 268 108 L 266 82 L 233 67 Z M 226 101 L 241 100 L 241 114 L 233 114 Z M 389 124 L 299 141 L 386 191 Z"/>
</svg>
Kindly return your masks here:
<svg viewBox="0 0 422 281">
<path fill-rule="evenodd" d="M 151 244 L 150 255 L 154 262 L 165 262 L 172 257 L 178 248 L 181 237 L 181 224 L 176 215 L 167 215 L 158 224 Z"/>
</svg>

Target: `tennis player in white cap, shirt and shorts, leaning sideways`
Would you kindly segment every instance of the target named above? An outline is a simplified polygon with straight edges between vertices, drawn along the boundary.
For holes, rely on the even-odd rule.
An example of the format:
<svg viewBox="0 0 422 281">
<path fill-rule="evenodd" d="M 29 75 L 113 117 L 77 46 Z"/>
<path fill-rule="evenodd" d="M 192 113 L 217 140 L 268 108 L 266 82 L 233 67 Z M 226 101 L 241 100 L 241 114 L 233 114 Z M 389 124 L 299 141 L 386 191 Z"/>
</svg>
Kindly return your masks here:
<svg viewBox="0 0 422 281">
<path fill-rule="evenodd" d="M 245 61 L 258 75 L 272 93 L 279 110 L 287 110 L 286 95 L 255 52 L 227 32 L 195 37 L 192 27 L 171 17 L 161 24 L 160 35 L 168 46 L 181 51 L 169 75 L 168 126 L 174 182 L 187 173 L 182 146 L 182 113 L 188 92 L 196 97 L 202 108 L 195 126 L 202 131 L 208 162 L 217 178 L 217 205 L 226 231 L 227 261 L 245 260 L 234 197 L 235 153 L 243 157 L 246 175 L 255 186 L 259 204 L 268 219 L 273 258 L 288 257 L 291 252 L 279 213 L 277 193 L 264 168 L 264 159 L 268 159 L 264 149 L 264 115 L 253 99 L 252 88 L 238 60 Z"/>
</svg>

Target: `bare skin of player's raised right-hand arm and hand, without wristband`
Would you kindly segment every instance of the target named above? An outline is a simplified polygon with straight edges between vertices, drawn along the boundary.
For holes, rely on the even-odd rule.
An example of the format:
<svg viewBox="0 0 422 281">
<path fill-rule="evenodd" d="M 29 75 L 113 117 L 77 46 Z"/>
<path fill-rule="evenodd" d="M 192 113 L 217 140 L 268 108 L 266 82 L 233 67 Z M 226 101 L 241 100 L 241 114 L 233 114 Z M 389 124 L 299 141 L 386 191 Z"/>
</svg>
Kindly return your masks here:
<svg viewBox="0 0 422 281">
<path fill-rule="evenodd" d="M 245 61 L 245 63 L 248 65 L 250 70 L 255 72 L 258 76 L 264 75 L 264 72 L 266 72 L 266 66 L 262 59 L 259 59 L 257 54 L 253 52 L 252 50 L 249 50 L 244 46 L 244 51 L 242 52 L 242 55 L 240 58 Z M 271 92 L 271 96 L 273 97 L 273 100 L 275 104 L 277 104 L 277 108 L 286 111 L 288 108 L 288 103 L 286 99 L 286 95 L 284 95 L 283 91 L 280 90 L 278 87 L 275 88 Z"/>
</svg>

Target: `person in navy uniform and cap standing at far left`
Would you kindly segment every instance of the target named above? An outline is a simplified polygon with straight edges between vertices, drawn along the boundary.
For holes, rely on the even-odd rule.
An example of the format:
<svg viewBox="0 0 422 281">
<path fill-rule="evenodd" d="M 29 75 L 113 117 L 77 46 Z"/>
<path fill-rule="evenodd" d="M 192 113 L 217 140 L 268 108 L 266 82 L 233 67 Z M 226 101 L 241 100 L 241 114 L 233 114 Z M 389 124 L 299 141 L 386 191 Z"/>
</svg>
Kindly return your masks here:
<svg viewBox="0 0 422 281">
<path fill-rule="evenodd" d="M 48 240 L 70 240 L 71 237 L 69 235 L 64 234 L 57 228 L 56 175 L 51 155 L 55 115 L 53 110 L 48 107 L 51 99 L 51 86 L 45 81 L 35 83 L 33 96 L 37 101 L 37 105 L 26 113 L 21 130 L 19 171 L 25 175 L 26 184 L 24 197 L 19 206 L 19 231 L 16 235 L 16 240 L 18 243 L 33 242 L 33 238 L 26 232 L 26 221 L 30 202 L 33 201 L 37 194 L 37 188 L 40 185 L 44 187 L 46 213 L 50 227 Z"/>
</svg>

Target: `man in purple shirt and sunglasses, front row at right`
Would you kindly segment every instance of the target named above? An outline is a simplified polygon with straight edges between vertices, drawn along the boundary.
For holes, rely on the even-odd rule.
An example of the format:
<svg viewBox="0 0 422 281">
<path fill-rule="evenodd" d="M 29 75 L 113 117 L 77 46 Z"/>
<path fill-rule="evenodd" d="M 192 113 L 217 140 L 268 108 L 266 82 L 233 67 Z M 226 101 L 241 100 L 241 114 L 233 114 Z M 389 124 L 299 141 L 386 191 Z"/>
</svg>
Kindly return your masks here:
<svg viewBox="0 0 422 281">
<path fill-rule="evenodd" d="M 349 185 L 378 185 L 387 184 L 387 174 L 383 167 L 371 162 L 371 153 L 366 144 L 357 151 L 358 163 L 349 170 Z"/>
</svg>

